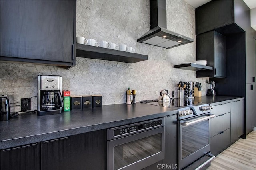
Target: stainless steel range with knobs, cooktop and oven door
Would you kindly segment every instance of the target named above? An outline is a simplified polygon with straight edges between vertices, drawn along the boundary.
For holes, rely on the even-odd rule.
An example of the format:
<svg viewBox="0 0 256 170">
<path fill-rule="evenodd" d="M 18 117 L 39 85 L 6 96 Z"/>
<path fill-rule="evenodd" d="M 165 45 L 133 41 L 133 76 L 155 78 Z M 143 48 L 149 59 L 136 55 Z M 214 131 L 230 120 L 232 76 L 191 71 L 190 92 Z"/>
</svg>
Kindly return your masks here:
<svg viewBox="0 0 256 170">
<path fill-rule="evenodd" d="M 198 170 L 210 166 L 215 158 L 210 152 L 210 119 L 214 117 L 209 104 L 192 98 L 172 99 L 163 104 L 158 100 L 142 103 L 178 109 L 178 169 Z"/>
</svg>

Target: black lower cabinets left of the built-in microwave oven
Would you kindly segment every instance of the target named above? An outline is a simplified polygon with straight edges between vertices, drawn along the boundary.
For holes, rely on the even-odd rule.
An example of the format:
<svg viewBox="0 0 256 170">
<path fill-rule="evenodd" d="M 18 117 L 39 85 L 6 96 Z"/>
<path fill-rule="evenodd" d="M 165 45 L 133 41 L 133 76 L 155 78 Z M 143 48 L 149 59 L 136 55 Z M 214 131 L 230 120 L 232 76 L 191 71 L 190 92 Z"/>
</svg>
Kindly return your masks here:
<svg viewBox="0 0 256 170">
<path fill-rule="evenodd" d="M 1 150 L 1 170 L 104 170 L 106 131 Z"/>
</svg>

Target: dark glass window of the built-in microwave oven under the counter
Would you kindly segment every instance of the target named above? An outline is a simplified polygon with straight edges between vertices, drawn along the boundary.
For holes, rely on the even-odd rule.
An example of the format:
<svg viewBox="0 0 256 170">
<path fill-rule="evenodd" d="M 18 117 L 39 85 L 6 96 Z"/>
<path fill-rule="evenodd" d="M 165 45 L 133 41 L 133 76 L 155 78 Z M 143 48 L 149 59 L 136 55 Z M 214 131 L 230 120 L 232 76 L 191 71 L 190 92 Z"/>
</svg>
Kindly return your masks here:
<svg viewBox="0 0 256 170">
<path fill-rule="evenodd" d="M 161 133 L 114 147 L 114 170 L 161 152 Z"/>
</svg>

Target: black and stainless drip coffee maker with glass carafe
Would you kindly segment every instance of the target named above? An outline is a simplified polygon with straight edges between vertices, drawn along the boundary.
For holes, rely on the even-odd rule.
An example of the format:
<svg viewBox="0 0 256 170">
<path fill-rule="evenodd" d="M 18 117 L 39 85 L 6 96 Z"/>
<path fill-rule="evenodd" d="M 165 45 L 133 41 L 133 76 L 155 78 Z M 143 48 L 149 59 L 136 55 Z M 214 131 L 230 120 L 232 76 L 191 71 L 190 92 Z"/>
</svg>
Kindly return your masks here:
<svg viewBox="0 0 256 170">
<path fill-rule="evenodd" d="M 37 115 L 62 113 L 62 76 L 38 75 L 37 80 Z"/>
</svg>

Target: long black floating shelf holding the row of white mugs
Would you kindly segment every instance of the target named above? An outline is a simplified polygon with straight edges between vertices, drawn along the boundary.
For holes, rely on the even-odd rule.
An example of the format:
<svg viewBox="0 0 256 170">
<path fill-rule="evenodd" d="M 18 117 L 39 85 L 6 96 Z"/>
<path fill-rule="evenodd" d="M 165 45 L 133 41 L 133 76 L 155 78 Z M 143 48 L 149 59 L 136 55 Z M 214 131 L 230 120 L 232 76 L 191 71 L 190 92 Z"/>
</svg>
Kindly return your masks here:
<svg viewBox="0 0 256 170">
<path fill-rule="evenodd" d="M 91 45 L 83 44 L 76 44 L 76 57 L 119 61 L 125 63 L 136 63 L 148 59 L 147 55 L 129 53 L 125 51 L 107 49 L 102 47 L 94 47 Z"/>
</svg>

